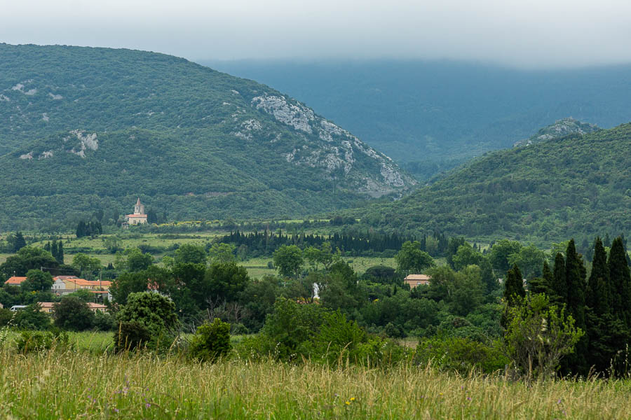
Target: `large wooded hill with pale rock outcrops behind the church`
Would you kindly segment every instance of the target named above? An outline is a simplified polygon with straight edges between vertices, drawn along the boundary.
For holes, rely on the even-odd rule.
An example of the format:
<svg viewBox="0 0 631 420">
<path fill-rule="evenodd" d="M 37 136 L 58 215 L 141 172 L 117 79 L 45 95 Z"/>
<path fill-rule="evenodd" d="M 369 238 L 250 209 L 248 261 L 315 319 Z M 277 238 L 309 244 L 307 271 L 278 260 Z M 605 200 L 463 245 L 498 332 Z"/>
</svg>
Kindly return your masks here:
<svg viewBox="0 0 631 420">
<path fill-rule="evenodd" d="M 281 217 L 414 185 L 295 99 L 153 52 L 0 44 L 0 120 L 0 229 L 136 195 L 176 219 Z"/>
</svg>

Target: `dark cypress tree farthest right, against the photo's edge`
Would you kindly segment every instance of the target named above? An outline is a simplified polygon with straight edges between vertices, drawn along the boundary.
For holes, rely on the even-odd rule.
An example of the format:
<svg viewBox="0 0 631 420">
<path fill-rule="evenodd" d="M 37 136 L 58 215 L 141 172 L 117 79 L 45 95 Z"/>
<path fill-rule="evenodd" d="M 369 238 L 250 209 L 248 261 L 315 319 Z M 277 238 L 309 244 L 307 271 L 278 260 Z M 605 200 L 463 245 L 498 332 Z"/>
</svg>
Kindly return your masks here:
<svg viewBox="0 0 631 420">
<path fill-rule="evenodd" d="M 612 313 L 620 318 L 627 328 L 630 326 L 631 316 L 629 305 L 631 303 L 631 274 L 627 265 L 627 252 L 622 238 L 613 239 L 609 260 L 610 307 Z"/>
</svg>

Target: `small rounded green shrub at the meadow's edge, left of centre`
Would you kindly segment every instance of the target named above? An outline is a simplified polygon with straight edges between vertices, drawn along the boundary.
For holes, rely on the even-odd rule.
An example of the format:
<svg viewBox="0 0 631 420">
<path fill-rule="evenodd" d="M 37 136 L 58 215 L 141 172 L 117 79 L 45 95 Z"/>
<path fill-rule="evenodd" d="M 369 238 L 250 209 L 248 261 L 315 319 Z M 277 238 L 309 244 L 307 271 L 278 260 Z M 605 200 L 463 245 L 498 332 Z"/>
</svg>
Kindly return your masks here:
<svg viewBox="0 0 631 420">
<path fill-rule="evenodd" d="M 215 362 L 226 357 L 232 346 L 230 344 L 230 324 L 215 318 L 212 323 L 205 322 L 198 326 L 191 339 L 191 356 L 202 362 Z"/>
</svg>

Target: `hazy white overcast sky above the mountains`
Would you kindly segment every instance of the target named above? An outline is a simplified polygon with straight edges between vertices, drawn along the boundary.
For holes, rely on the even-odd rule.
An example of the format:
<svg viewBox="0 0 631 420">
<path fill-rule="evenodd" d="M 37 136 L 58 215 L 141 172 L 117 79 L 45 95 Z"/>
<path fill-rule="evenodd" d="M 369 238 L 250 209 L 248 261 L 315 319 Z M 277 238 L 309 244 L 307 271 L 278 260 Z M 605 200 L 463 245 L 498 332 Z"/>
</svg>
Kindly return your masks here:
<svg viewBox="0 0 631 420">
<path fill-rule="evenodd" d="M 631 0 L 0 0 L 0 42 L 189 59 L 631 62 Z"/>
</svg>

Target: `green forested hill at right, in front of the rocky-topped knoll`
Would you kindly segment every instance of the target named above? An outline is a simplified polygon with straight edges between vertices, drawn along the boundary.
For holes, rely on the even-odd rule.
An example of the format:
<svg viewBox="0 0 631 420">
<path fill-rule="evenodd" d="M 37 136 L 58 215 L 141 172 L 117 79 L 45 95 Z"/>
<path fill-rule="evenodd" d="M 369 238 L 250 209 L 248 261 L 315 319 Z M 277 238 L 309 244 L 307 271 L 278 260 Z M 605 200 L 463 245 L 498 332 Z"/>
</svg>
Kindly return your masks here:
<svg viewBox="0 0 631 420">
<path fill-rule="evenodd" d="M 398 202 L 374 226 L 550 244 L 631 234 L 631 124 L 488 153 Z"/>
</svg>

